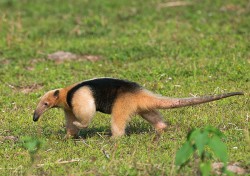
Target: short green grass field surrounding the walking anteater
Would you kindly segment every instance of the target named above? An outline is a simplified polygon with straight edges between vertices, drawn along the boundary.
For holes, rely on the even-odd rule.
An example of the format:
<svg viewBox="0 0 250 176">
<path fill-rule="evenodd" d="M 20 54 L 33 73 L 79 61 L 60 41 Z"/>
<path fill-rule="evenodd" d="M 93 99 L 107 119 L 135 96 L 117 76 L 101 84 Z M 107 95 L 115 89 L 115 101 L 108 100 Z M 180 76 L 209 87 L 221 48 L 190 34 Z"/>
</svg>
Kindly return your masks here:
<svg viewBox="0 0 250 176">
<path fill-rule="evenodd" d="M 175 153 L 189 130 L 206 125 L 226 135 L 230 163 L 249 171 L 250 3 L 168 2 L 0 1 L 1 175 L 195 175 L 195 162 L 177 173 Z M 56 51 L 79 58 L 48 59 Z M 169 128 L 158 140 L 140 117 L 118 140 L 101 113 L 77 141 L 63 140 L 59 109 L 32 121 L 43 93 L 94 77 L 136 81 L 169 97 L 245 95 L 161 111 Z M 25 136 L 45 141 L 34 163 L 22 147 Z"/>
</svg>

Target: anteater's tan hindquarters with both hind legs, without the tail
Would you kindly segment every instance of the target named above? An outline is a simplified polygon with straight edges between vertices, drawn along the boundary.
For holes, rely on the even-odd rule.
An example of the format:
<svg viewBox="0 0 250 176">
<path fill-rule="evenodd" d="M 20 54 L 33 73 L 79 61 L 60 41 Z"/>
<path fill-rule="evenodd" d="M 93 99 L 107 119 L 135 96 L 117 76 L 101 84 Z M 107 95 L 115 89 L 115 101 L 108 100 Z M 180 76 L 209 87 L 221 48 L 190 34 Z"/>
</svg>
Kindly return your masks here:
<svg viewBox="0 0 250 176">
<path fill-rule="evenodd" d="M 167 125 L 163 122 L 161 114 L 154 110 L 157 103 L 157 95 L 147 90 L 120 95 L 112 109 L 111 130 L 113 137 L 125 134 L 126 124 L 134 114 L 141 115 L 158 132 L 164 130 Z"/>
</svg>

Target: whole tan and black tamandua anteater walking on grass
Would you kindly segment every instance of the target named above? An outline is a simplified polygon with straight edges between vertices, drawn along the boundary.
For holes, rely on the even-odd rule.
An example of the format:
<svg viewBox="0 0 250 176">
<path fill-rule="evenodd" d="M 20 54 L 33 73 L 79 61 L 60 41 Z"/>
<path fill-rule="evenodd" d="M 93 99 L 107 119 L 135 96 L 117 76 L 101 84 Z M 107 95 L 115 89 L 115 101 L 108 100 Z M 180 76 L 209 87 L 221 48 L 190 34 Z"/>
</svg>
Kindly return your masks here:
<svg viewBox="0 0 250 176">
<path fill-rule="evenodd" d="M 66 137 L 77 137 L 79 130 L 87 128 L 96 111 L 100 111 L 111 114 L 112 136 L 118 137 L 125 134 L 130 117 L 139 114 L 161 132 L 167 125 L 157 109 L 192 106 L 235 95 L 243 93 L 169 98 L 153 94 L 135 82 L 97 78 L 47 92 L 38 103 L 33 120 L 37 121 L 50 108 L 62 108 L 66 118 Z"/>
</svg>

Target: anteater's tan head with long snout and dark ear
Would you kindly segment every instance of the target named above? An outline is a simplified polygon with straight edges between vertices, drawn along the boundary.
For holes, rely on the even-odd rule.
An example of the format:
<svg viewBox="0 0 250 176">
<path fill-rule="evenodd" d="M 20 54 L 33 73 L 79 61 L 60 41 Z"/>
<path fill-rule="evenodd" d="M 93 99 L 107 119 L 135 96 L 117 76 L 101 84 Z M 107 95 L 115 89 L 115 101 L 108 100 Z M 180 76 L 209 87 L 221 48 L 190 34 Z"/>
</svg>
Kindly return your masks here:
<svg viewBox="0 0 250 176">
<path fill-rule="evenodd" d="M 59 94 L 59 90 L 51 90 L 42 96 L 34 112 L 33 121 L 38 121 L 39 117 L 48 109 L 57 107 Z"/>
</svg>

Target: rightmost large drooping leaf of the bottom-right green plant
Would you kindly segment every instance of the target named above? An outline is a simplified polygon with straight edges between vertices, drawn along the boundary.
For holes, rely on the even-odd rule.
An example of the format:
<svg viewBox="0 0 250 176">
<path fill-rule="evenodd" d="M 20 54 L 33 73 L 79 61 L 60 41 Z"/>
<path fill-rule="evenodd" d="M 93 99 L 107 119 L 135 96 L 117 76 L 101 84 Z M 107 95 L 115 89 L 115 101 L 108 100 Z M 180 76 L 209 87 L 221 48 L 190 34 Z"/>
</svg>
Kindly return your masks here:
<svg viewBox="0 0 250 176">
<path fill-rule="evenodd" d="M 213 150 L 214 154 L 224 163 L 227 162 L 227 146 L 221 141 L 218 136 L 213 136 L 208 146 Z"/>
</svg>

